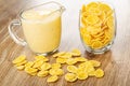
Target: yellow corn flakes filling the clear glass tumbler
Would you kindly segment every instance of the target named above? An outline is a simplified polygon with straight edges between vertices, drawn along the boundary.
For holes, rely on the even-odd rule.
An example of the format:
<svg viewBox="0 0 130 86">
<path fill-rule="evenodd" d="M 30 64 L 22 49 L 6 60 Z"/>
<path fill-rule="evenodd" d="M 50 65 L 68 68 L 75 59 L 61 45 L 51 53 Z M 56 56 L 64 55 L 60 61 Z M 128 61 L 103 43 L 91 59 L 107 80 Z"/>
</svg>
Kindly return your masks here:
<svg viewBox="0 0 130 86">
<path fill-rule="evenodd" d="M 86 45 L 93 49 L 106 46 L 114 39 L 114 11 L 104 2 L 82 5 L 80 34 Z"/>
</svg>

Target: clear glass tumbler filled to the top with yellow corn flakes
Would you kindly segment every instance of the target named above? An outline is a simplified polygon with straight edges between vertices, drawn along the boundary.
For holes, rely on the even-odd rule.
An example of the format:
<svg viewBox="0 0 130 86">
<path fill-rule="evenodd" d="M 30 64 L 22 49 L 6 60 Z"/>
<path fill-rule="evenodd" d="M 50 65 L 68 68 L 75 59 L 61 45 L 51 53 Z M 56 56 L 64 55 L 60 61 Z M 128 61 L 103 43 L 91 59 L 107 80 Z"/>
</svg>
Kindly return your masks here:
<svg viewBox="0 0 130 86">
<path fill-rule="evenodd" d="M 89 3 L 92 3 L 92 4 L 89 4 Z M 82 12 L 82 10 L 86 9 L 82 6 L 82 10 L 80 10 L 80 13 L 79 13 L 79 32 L 80 32 L 81 42 L 87 52 L 89 52 L 91 54 L 103 54 L 110 49 L 110 47 L 114 43 L 115 37 L 116 37 L 116 14 L 115 14 L 114 8 L 109 3 L 101 2 L 101 1 L 88 2 L 89 6 L 90 5 L 96 6 L 96 3 L 107 4 L 112 10 L 112 15 L 110 15 L 110 11 L 109 11 L 109 14 L 107 14 L 107 16 L 105 16 L 105 18 L 103 19 L 104 23 L 95 24 L 95 26 L 94 26 L 94 25 L 91 25 L 88 23 L 90 17 L 87 18 L 89 16 L 89 14 L 86 12 Z M 100 5 L 100 6 L 104 6 L 104 5 Z M 98 9 L 98 6 L 92 8 L 90 10 L 94 11 L 96 9 Z M 103 16 L 103 11 L 102 11 L 102 14 L 100 14 L 98 16 L 101 19 Z M 112 22 L 108 22 L 109 17 L 113 17 Z M 109 27 L 108 23 L 110 23 L 113 26 Z M 99 27 L 99 25 L 100 25 L 100 27 Z"/>
</svg>

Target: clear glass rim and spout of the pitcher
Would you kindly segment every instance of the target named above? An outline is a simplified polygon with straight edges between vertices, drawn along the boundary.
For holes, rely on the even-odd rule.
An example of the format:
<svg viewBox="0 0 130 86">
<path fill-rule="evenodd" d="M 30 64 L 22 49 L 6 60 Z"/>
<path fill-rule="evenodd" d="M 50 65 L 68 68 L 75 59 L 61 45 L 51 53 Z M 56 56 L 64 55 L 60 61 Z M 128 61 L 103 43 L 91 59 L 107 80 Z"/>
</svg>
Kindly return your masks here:
<svg viewBox="0 0 130 86">
<path fill-rule="evenodd" d="M 55 4 L 58 5 L 58 9 L 55 9 L 54 11 L 52 11 L 51 13 L 49 13 L 48 16 L 50 16 L 51 14 L 53 14 L 53 13 L 55 13 L 55 12 L 57 12 L 57 11 L 61 11 L 61 13 L 62 13 L 62 12 L 64 12 L 64 11 L 66 10 L 61 3 L 55 2 L 55 1 L 50 1 L 50 2 L 46 2 L 46 3 L 42 3 L 42 4 L 34 5 L 34 6 L 30 6 L 30 8 L 28 8 L 28 9 L 22 10 L 22 11 L 20 12 L 18 17 L 20 17 L 21 19 L 23 19 L 23 20 L 30 20 L 30 19 L 24 18 L 24 17 L 22 16 L 22 14 L 23 14 L 25 11 L 28 11 L 28 10 L 31 10 L 31 9 L 35 9 L 35 8 L 37 8 L 37 6 L 41 6 L 41 5 L 44 5 L 44 4 L 48 4 L 48 3 L 55 3 Z M 43 18 L 43 19 L 44 19 L 44 18 Z M 42 19 L 41 19 L 41 20 L 42 20 Z M 31 22 L 32 22 L 32 20 L 31 20 Z M 39 19 L 35 19 L 35 22 L 39 22 Z"/>
</svg>

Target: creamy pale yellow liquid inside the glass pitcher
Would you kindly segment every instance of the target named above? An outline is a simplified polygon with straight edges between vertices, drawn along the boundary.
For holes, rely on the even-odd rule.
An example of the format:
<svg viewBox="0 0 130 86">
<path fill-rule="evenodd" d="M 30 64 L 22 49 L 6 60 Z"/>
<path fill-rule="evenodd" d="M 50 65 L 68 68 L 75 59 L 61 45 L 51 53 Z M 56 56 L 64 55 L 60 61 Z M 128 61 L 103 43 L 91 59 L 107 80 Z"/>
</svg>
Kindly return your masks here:
<svg viewBox="0 0 130 86">
<path fill-rule="evenodd" d="M 61 14 L 51 11 L 26 11 L 22 14 L 22 27 L 26 42 L 35 53 L 56 49 L 61 41 Z"/>
</svg>

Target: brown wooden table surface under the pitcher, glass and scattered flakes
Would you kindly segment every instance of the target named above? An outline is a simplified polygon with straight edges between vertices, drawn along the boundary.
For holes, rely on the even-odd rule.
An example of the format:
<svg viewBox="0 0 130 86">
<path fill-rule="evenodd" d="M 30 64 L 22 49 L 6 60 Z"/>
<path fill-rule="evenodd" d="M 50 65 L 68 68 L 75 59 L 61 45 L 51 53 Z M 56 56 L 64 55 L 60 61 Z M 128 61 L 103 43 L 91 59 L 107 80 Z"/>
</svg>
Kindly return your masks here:
<svg viewBox="0 0 130 86">
<path fill-rule="evenodd" d="M 66 8 L 63 14 L 62 41 L 58 51 L 79 48 L 86 58 L 102 62 L 101 68 L 105 71 L 105 76 L 89 77 L 75 83 L 67 83 L 63 76 L 58 82 L 48 84 L 47 78 L 17 71 L 12 60 L 21 54 L 26 55 L 27 59 L 32 59 L 35 54 L 28 47 L 14 43 L 9 35 L 8 25 L 24 8 L 40 4 L 47 0 L 0 0 L 0 86 L 130 86 L 130 0 L 108 1 L 116 10 L 116 40 L 109 52 L 93 57 L 86 53 L 78 31 L 78 12 L 87 0 L 55 1 Z M 16 31 L 22 33 L 21 29 Z"/>
</svg>

